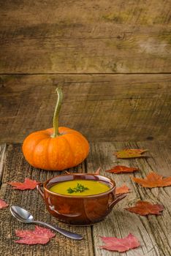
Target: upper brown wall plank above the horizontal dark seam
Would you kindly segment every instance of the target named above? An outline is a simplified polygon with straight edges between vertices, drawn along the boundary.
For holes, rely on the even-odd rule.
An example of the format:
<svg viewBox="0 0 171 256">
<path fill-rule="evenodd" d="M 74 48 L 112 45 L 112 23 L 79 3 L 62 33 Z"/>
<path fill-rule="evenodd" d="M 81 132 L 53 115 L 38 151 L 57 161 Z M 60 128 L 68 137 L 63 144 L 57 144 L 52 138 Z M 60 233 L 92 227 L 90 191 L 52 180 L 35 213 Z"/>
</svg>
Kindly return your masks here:
<svg viewBox="0 0 171 256">
<path fill-rule="evenodd" d="M 170 72 L 170 1 L 0 1 L 1 73 Z"/>
</svg>

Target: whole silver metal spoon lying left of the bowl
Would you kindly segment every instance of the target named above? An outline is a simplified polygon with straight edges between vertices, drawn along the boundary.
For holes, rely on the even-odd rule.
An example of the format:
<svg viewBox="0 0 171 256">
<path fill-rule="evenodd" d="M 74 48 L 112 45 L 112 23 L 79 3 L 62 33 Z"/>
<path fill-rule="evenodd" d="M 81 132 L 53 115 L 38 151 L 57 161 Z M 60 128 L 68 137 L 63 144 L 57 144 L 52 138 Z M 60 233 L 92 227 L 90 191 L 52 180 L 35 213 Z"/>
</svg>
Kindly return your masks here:
<svg viewBox="0 0 171 256">
<path fill-rule="evenodd" d="M 60 227 L 56 227 L 56 226 L 48 224 L 46 222 L 40 222 L 39 220 L 34 220 L 34 217 L 28 211 L 26 211 L 25 209 L 23 209 L 19 206 L 11 206 L 10 211 L 12 213 L 12 216 L 15 217 L 16 219 L 18 219 L 20 222 L 44 225 L 44 226 L 52 228 L 53 230 L 56 230 L 58 233 L 61 233 L 62 235 L 66 236 L 68 238 L 72 238 L 75 240 L 83 239 L 83 236 L 80 236 L 79 234 L 63 230 Z"/>
</svg>

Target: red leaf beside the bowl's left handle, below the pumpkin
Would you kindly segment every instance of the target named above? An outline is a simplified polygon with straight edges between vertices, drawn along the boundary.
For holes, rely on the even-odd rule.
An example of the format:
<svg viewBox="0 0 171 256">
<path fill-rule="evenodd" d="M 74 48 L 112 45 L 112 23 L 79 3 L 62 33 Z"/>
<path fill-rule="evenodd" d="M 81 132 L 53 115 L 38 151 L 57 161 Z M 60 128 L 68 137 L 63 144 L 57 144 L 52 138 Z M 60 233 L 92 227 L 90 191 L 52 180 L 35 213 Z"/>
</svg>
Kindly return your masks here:
<svg viewBox="0 0 171 256">
<path fill-rule="evenodd" d="M 7 183 L 13 186 L 13 189 L 20 189 L 20 190 L 35 189 L 37 187 L 37 184 L 39 184 L 39 182 L 33 181 L 30 178 L 25 178 L 24 182 L 7 182 Z"/>
</svg>

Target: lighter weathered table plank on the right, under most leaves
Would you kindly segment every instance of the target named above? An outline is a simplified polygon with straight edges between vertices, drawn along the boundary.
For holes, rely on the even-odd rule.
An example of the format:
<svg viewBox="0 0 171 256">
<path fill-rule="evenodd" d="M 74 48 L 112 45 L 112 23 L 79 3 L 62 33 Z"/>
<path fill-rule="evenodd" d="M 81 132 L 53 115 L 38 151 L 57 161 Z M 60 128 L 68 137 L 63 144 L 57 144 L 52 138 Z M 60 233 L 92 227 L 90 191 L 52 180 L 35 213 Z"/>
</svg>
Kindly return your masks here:
<svg viewBox="0 0 171 256">
<path fill-rule="evenodd" d="M 123 148 L 148 148 L 149 158 L 140 159 L 116 159 L 113 152 Z M 170 255 L 171 249 L 171 188 L 145 189 L 134 184 L 130 176 L 144 177 L 151 170 L 163 176 L 170 176 L 170 145 L 168 143 L 139 142 L 139 143 L 93 143 L 91 154 L 87 160 L 88 171 L 94 171 L 102 166 L 102 174 L 113 178 L 117 186 L 126 183 L 132 192 L 113 209 L 112 213 L 99 224 L 93 227 L 94 247 L 96 255 L 113 255 L 113 252 L 99 249 L 102 241 L 99 236 L 124 237 L 129 233 L 134 234 L 140 241 L 141 246 L 137 249 L 123 253 L 124 256 L 165 256 Z M 113 165 L 128 165 L 139 167 L 140 172 L 134 174 L 111 174 L 104 170 L 110 169 Z M 124 207 L 132 205 L 137 200 L 149 200 L 152 203 L 164 205 L 161 216 L 140 217 L 137 214 L 129 213 Z M 120 255 L 115 252 L 115 255 Z"/>
</svg>

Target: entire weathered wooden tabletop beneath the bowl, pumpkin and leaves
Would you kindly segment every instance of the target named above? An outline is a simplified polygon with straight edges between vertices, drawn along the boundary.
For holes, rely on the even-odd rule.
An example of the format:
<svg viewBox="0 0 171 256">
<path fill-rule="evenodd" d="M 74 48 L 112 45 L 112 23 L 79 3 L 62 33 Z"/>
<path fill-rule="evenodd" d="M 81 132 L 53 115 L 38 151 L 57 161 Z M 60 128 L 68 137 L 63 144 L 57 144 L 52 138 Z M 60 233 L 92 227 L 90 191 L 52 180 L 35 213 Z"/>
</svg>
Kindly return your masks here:
<svg viewBox="0 0 171 256">
<path fill-rule="evenodd" d="M 122 148 L 148 148 L 148 157 L 140 159 L 115 159 L 113 152 Z M 117 186 L 126 183 L 132 192 L 118 203 L 113 211 L 104 221 L 91 227 L 72 227 L 57 222 L 54 217 L 50 217 L 42 198 L 34 189 L 19 191 L 11 189 L 8 181 L 23 181 L 24 177 L 45 181 L 47 178 L 56 176 L 58 172 L 37 170 L 26 162 L 21 151 L 20 144 L 1 144 L 1 190 L 0 197 L 4 198 L 9 205 L 23 206 L 28 209 L 35 219 L 50 222 L 64 227 L 67 230 L 75 231 L 83 235 L 83 241 L 72 241 L 56 234 L 47 245 L 21 245 L 15 244 L 17 237 L 15 230 L 31 229 L 31 225 L 22 224 L 16 221 L 9 213 L 9 208 L 1 210 L 1 252 L 6 255 L 123 255 L 123 256 L 166 256 L 171 252 L 171 200 L 170 187 L 146 189 L 134 184 L 130 176 L 144 177 L 151 170 L 163 176 L 170 175 L 171 167 L 171 147 L 167 143 L 119 143 L 101 142 L 91 143 L 91 153 L 86 162 L 71 169 L 71 172 L 94 172 L 99 166 L 102 167 L 102 175 L 114 178 Z M 133 174 L 111 174 L 105 173 L 115 164 L 130 165 L 139 167 L 140 171 Z M 161 216 L 149 215 L 140 217 L 137 214 L 129 213 L 124 207 L 131 205 L 137 200 L 149 200 L 151 203 L 161 203 L 164 211 Z M 100 249 L 102 241 L 99 236 L 116 236 L 122 238 L 129 233 L 137 236 L 141 246 L 126 253 L 108 252 Z"/>
</svg>

